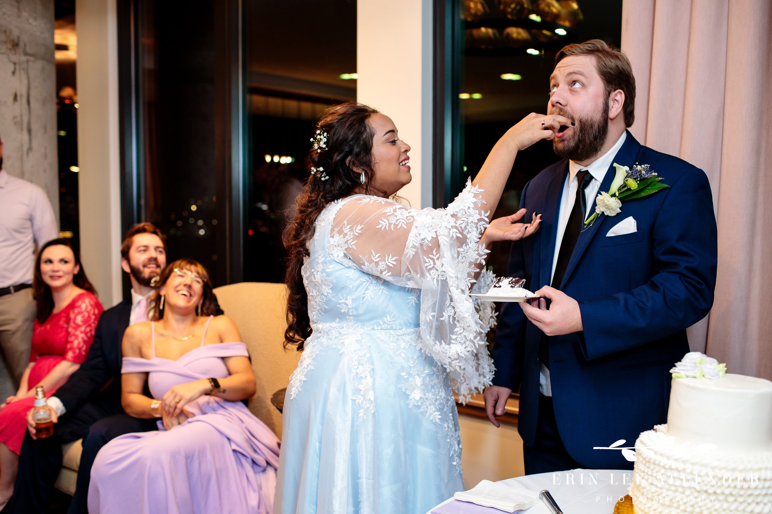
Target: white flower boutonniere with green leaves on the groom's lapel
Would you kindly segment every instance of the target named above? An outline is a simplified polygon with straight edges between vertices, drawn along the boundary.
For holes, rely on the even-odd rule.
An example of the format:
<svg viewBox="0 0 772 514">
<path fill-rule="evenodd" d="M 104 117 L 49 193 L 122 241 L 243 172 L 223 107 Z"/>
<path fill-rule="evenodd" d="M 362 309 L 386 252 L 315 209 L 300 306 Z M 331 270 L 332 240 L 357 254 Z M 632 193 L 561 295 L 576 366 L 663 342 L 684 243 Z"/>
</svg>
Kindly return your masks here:
<svg viewBox="0 0 772 514">
<path fill-rule="evenodd" d="M 595 199 L 597 203 L 595 212 L 584 222 L 584 228 L 591 227 L 601 214 L 616 216 L 620 213 L 621 200 L 637 200 L 670 187 L 661 182 L 662 177 L 652 172 L 648 164 L 635 164 L 630 169 L 628 166 L 619 166 L 614 163 L 614 167 L 617 170 L 614 182 L 611 183 L 608 193 L 601 193 Z"/>
</svg>

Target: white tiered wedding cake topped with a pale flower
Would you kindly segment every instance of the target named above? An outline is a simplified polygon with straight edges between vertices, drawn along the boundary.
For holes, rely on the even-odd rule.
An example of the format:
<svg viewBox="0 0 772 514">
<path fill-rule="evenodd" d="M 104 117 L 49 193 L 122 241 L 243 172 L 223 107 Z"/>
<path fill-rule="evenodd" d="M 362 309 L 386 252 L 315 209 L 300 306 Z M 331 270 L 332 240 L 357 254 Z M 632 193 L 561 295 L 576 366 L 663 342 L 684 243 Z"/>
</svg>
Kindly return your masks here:
<svg viewBox="0 0 772 514">
<path fill-rule="evenodd" d="M 772 382 L 690 352 L 667 425 L 635 442 L 635 514 L 772 512 Z"/>
</svg>

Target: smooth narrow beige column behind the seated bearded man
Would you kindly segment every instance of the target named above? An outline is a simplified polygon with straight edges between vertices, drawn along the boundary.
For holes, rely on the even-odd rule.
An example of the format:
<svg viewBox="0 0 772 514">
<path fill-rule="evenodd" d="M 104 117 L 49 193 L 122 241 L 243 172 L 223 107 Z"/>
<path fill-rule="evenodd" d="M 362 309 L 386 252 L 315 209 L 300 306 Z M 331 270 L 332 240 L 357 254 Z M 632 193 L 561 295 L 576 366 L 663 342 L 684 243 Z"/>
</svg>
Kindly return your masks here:
<svg viewBox="0 0 772 514">
<path fill-rule="evenodd" d="M 80 254 L 105 307 L 117 304 L 120 151 L 115 0 L 76 0 Z"/>
</svg>

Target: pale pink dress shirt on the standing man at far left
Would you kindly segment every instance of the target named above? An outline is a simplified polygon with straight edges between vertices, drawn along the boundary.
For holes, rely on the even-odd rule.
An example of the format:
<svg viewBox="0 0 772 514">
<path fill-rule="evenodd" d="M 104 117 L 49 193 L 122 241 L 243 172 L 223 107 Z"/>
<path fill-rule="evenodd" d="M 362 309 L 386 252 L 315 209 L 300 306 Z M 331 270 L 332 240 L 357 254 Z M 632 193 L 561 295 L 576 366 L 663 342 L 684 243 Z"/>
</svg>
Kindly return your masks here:
<svg viewBox="0 0 772 514">
<path fill-rule="evenodd" d="M 51 202 L 39 186 L 0 170 L 0 287 L 32 284 L 35 244 L 59 237 Z"/>
</svg>

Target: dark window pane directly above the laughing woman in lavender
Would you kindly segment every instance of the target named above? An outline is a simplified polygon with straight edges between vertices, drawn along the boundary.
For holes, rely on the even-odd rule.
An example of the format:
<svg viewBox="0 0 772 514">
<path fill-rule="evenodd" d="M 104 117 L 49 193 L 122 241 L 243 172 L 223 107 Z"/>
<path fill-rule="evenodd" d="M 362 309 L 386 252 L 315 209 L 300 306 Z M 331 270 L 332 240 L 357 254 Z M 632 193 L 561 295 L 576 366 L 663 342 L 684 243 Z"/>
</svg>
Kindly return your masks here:
<svg viewBox="0 0 772 514">
<path fill-rule="evenodd" d="M 134 2 L 140 151 L 137 220 L 168 234 L 169 258 L 204 264 L 227 281 L 225 94 L 218 61 L 228 62 L 218 20 L 228 2 Z"/>
</svg>

